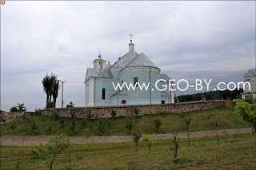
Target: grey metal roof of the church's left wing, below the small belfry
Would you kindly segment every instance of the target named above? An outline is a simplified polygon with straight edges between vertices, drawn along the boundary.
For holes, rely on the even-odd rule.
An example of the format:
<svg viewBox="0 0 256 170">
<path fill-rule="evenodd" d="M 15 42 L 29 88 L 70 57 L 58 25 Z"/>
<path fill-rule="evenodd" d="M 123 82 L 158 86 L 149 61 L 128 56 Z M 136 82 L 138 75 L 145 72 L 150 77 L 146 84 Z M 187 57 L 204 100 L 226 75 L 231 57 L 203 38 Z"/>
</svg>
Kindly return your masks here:
<svg viewBox="0 0 256 170">
<path fill-rule="evenodd" d="M 114 78 L 109 69 L 87 69 L 86 80 L 89 77 Z"/>
</svg>

